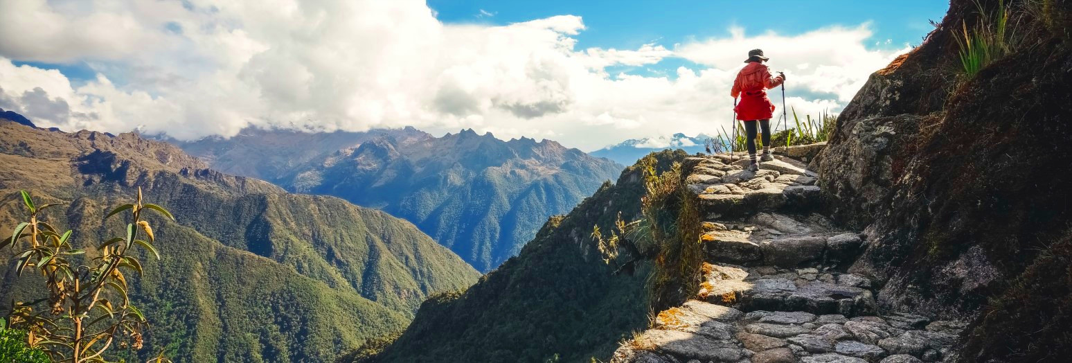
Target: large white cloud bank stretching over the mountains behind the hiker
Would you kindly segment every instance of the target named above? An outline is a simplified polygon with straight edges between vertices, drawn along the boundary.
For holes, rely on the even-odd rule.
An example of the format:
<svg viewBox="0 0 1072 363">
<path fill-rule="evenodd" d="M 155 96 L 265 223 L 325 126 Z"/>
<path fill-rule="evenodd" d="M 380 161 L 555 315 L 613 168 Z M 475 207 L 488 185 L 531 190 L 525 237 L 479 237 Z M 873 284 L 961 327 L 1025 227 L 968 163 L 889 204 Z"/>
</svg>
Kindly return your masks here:
<svg viewBox="0 0 1072 363">
<path fill-rule="evenodd" d="M 637 49 L 587 48 L 581 17 L 443 24 L 423 1 L 0 0 L 0 108 L 43 126 L 232 136 L 249 126 L 364 131 L 473 127 L 593 150 L 627 138 L 714 134 L 748 49 L 789 75 L 813 115 L 848 103 L 902 49 L 870 25 Z M 615 66 L 687 66 L 671 76 Z M 85 64 L 72 80 L 19 62 Z M 779 96 L 772 96 L 776 100 Z"/>
</svg>

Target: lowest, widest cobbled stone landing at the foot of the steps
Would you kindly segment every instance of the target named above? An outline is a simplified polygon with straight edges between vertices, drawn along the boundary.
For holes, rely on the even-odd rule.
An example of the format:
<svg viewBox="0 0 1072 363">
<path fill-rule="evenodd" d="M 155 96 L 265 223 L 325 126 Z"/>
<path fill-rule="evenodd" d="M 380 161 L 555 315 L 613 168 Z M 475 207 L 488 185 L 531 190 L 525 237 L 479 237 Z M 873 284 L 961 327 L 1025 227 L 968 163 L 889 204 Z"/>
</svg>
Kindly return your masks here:
<svg viewBox="0 0 1072 363">
<path fill-rule="evenodd" d="M 742 313 L 691 300 L 659 313 L 612 362 L 950 362 L 964 328 L 910 314 Z"/>
</svg>

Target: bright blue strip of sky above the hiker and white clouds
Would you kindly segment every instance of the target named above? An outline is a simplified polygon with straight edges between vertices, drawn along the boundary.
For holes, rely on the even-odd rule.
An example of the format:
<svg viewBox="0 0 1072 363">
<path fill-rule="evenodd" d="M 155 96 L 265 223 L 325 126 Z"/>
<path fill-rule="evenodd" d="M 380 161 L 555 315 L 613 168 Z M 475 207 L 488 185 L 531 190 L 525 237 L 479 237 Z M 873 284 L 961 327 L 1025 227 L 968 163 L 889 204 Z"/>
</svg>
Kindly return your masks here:
<svg viewBox="0 0 1072 363">
<path fill-rule="evenodd" d="M 731 26 L 749 32 L 800 33 L 817 28 L 872 22 L 873 41 L 918 45 L 949 9 L 949 1 L 494 1 L 429 0 L 444 22 L 506 25 L 554 15 L 584 18 L 578 47 L 637 48 L 727 34 Z M 481 11 L 492 14 L 481 14 Z"/>
</svg>

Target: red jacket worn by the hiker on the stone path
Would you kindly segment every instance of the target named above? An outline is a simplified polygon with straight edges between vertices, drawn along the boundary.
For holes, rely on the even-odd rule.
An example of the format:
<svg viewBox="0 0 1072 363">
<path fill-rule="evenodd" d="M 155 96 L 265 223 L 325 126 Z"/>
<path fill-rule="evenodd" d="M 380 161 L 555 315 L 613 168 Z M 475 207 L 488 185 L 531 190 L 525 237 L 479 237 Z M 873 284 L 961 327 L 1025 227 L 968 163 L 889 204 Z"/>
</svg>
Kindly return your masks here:
<svg viewBox="0 0 1072 363">
<path fill-rule="evenodd" d="M 781 76 L 771 77 L 771 70 L 760 62 L 749 62 L 733 80 L 730 95 L 741 97 L 734 110 L 738 120 L 766 120 L 774 115 L 774 104 L 766 97 L 766 90 L 778 87 L 785 79 Z"/>
</svg>

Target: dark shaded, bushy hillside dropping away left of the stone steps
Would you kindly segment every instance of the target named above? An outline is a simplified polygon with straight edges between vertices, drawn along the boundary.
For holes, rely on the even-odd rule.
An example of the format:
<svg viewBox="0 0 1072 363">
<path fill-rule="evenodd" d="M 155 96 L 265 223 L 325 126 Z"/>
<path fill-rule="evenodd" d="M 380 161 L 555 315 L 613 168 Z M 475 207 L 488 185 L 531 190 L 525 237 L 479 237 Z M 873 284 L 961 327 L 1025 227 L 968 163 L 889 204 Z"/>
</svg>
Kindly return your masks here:
<svg viewBox="0 0 1072 363">
<path fill-rule="evenodd" d="M 550 218 L 518 256 L 468 290 L 426 301 L 410 328 L 372 361 L 609 359 L 620 341 L 647 327 L 652 298 L 673 297 L 683 285 L 669 283 L 673 273 L 655 277 L 659 269 L 656 259 L 665 258 L 669 267 L 682 256 L 676 252 L 681 249 L 670 246 L 638 248 L 636 241 L 623 241 L 613 260 L 607 260 L 592 236 L 593 226 L 616 230 L 620 220 L 635 222 L 646 216 L 642 199 L 653 207 L 665 201 L 668 205 L 659 213 L 667 215 L 654 225 L 668 243 L 678 243 L 679 232 L 670 225 L 681 207 L 673 205 L 679 200 L 674 185 L 681 185 L 681 181 L 672 181 L 680 175 L 667 171 L 685 156 L 681 151 L 664 151 L 626 168 L 616 184 L 605 183 L 569 214 Z M 659 181 L 653 176 L 667 179 Z M 645 196 L 649 186 L 659 185 L 665 186 L 665 193 Z M 691 241 L 696 242 L 695 236 Z M 699 283 L 698 266 L 696 272 L 694 285 Z M 653 287 L 665 287 L 666 291 Z"/>
</svg>

